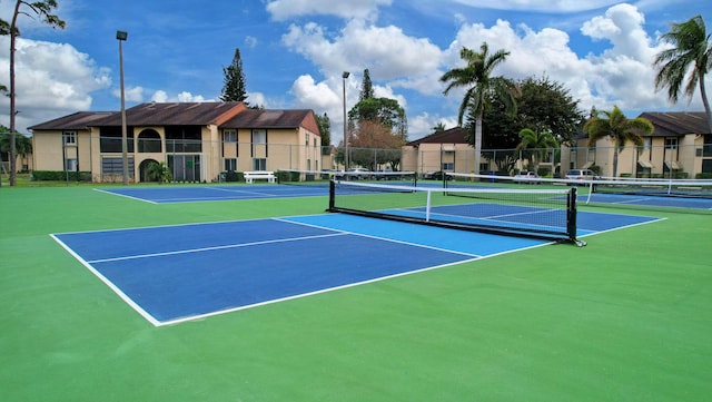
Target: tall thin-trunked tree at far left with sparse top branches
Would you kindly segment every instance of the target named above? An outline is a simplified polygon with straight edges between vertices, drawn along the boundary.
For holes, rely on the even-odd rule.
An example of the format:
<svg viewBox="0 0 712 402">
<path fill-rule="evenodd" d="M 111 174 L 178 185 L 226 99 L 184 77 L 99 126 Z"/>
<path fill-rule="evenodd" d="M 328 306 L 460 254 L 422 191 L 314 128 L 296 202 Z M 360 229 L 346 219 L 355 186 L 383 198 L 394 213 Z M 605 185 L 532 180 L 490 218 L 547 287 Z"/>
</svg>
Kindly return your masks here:
<svg viewBox="0 0 712 402">
<path fill-rule="evenodd" d="M 57 1 L 43 0 L 29 2 L 26 0 L 17 0 L 12 12 L 11 22 L 0 20 L 0 35 L 10 36 L 10 186 L 14 186 L 17 178 L 17 149 L 16 149 L 16 94 L 17 88 L 14 86 L 14 50 L 17 37 L 20 36 L 20 29 L 18 27 L 18 18 L 20 16 L 38 17 L 43 23 L 52 27 L 65 29 L 66 22 L 52 12 L 57 8 Z"/>
</svg>

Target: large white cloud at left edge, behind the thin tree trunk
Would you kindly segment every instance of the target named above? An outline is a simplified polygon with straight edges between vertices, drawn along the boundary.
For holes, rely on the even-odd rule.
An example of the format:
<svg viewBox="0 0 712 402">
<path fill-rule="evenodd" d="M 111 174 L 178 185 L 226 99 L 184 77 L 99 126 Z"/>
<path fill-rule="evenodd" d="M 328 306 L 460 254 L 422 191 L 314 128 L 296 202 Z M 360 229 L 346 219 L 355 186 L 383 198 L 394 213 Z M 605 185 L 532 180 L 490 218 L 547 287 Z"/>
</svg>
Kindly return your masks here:
<svg viewBox="0 0 712 402">
<path fill-rule="evenodd" d="M 0 82 L 9 87 L 9 38 L 0 38 Z M 88 110 L 91 92 L 111 86 L 109 69 L 97 67 L 88 55 L 71 45 L 18 38 L 16 51 L 17 128 L 57 118 L 77 110 Z M 10 100 L 0 97 L 8 110 Z M 9 114 L 1 117 L 9 125 Z"/>
</svg>

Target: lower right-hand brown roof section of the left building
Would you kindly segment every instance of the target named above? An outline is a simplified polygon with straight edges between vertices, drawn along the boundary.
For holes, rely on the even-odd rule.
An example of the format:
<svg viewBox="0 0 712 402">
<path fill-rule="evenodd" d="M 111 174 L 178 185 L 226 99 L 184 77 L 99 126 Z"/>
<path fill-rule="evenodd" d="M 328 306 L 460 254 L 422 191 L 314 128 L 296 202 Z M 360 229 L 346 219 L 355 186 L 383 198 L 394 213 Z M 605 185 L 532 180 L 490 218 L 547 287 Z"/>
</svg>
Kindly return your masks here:
<svg viewBox="0 0 712 402">
<path fill-rule="evenodd" d="M 319 134 L 314 111 L 308 109 L 247 109 L 220 125 L 220 128 L 298 128 Z"/>
</svg>

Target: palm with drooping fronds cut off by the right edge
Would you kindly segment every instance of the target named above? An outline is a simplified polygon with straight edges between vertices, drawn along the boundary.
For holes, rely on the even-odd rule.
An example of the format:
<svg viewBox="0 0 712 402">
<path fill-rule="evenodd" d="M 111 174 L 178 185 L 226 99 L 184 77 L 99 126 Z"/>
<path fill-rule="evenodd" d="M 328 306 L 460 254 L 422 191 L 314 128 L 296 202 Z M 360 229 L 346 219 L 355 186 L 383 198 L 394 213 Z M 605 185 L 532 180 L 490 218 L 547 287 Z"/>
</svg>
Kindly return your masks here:
<svg viewBox="0 0 712 402">
<path fill-rule="evenodd" d="M 670 32 L 664 33 L 661 39 L 674 47 L 655 57 L 654 65 L 659 68 L 655 89 L 668 87 L 668 98 L 676 104 L 685 76 L 692 68 L 684 91 L 688 98 L 692 98 L 695 87 L 700 86 L 702 105 L 712 133 L 712 111 L 704 88 L 704 77 L 712 69 L 712 41 L 706 33 L 704 20 L 698 14 L 686 22 L 672 23 Z"/>
</svg>

